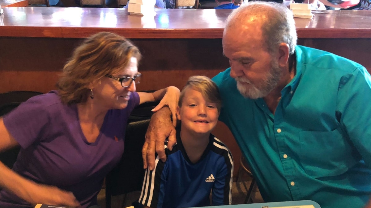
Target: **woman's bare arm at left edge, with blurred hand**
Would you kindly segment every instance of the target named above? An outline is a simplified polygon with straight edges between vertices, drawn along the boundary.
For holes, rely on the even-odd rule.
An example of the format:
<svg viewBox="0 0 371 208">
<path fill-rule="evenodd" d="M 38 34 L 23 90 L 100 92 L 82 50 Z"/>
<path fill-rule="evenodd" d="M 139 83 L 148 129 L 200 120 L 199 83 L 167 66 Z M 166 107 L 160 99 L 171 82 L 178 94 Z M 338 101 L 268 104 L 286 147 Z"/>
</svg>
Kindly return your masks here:
<svg viewBox="0 0 371 208">
<path fill-rule="evenodd" d="M 0 151 L 19 145 L 4 125 L 0 117 Z M 80 204 L 72 194 L 57 187 L 37 184 L 23 178 L 0 162 L 0 187 L 17 195 L 31 204 L 65 205 L 79 207 Z"/>
</svg>

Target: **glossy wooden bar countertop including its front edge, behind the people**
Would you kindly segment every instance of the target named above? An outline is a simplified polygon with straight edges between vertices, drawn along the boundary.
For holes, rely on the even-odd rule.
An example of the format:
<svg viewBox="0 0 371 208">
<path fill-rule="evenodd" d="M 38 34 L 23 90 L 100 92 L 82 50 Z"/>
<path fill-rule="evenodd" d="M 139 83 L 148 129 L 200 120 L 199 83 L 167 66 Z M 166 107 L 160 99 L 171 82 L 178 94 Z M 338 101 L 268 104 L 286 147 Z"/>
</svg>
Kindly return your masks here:
<svg viewBox="0 0 371 208">
<path fill-rule="evenodd" d="M 154 10 L 154 16 L 139 16 L 123 8 L 5 7 L 0 36 L 82 38 L 111 31 L 127 38 L 221 38 L 232 11 Z M 299 38 L 371 37 L 371 12 L 366 10 L 328 10 L 313 19 L 294 19 Z"/>
</svg>

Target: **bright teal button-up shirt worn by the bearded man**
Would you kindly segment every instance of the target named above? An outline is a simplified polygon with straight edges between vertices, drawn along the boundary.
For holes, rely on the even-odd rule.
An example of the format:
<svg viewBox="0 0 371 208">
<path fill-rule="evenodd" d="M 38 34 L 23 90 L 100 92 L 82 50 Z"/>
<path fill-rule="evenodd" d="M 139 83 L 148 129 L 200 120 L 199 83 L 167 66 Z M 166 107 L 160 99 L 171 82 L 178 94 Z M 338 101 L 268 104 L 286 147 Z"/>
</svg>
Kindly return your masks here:
<svg viewBox="0 0 371 208">
<path fill-rule="evenodd" d="M 266 202 L 310 199 L 361 208 L 371 194 L 371 77 L 358 63 L 296 46 L 296 75 L 275 114 L 244 98 L 230 68 L 213 81 Z"/>
</svg>

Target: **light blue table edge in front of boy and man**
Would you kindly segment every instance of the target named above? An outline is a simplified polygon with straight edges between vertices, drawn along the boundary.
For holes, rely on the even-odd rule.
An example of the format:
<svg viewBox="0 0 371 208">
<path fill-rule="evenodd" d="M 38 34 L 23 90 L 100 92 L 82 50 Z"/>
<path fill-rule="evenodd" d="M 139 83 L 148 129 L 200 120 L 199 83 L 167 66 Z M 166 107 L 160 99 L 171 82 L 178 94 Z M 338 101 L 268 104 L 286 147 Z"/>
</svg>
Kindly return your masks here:
<svg viewBox="0 0 371 208">
<path fill-rule="evenodd" d="M 262 208 L 262 207 L 267 207 L 267 208 L 275 208 L 275 207 L 306 208 L 305 206 L 307 206 L 307 205 L 313 205 L 314 208 L 321 208 L 321 206 L 319 206 L 319 204 L 317 202 L 314 202 L 314 201 L 311 201 L 311 200 L 210 206 L 208 208 Z"/>
</svg>

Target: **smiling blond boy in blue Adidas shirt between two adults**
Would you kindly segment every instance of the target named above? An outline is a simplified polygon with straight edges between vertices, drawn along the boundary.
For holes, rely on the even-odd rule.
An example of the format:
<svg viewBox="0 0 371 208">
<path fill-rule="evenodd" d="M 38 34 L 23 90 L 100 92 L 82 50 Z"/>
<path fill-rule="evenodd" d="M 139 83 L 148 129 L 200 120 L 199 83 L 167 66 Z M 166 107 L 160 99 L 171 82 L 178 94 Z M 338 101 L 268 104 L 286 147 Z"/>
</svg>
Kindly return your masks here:
<svg viewBox="0 0 371 208">
<path fill-rule="evenodd" d="M 178 102 L 177 144 L 146 171 L 139 203 L 152 208 L 232 204 L 233 159 L 212 134 L 221 107 L 216 84 L 205 76 L 188 79 Z M 210 192 L 212 190 L 212 203 Z"/>
</svg>

